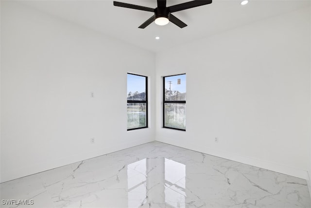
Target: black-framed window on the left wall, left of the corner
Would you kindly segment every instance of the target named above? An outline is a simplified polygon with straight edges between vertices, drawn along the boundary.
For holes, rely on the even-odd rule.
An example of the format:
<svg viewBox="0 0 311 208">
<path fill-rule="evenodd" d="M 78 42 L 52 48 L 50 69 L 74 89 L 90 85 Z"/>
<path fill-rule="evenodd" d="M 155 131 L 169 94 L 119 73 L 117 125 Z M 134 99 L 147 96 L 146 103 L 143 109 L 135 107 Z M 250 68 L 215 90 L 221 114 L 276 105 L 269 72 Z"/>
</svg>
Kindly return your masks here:
<svg viewBox="0 0 311 208">
<path fill-rule="evenodd" d="M 127 130 L 147 127 L 147 76 L 127 74 Z"/>
</svg>

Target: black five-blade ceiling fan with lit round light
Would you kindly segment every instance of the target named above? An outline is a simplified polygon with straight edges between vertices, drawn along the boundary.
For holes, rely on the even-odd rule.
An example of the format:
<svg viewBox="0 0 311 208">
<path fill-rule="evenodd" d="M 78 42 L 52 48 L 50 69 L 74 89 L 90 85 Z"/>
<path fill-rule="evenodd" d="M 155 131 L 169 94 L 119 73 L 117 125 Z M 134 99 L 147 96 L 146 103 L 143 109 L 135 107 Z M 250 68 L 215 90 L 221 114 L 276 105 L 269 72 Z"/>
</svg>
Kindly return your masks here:
<svg viewBox="0 0 311 208">
<path fill-rule="evenodd" d="M 113 5 L 130 8 L 130 9 L 138 9 L 142 11 L 147 12 L 154 12 L 155 14 L 147 19 L 144 23 L 142 23 L 138 28 L 145 28 L 149 24 L 151 24 L 153 21 L 155 21 L 155 24 L 157 25 L 166 25 L 169 22 L 173 22 L 175 25 L 177 25 L 180 28 L 186 27 L 187 24 L 185 24 L 180 19 L 173 16 L 171 13 L 178 12 L 185 9 L 190 9 L 197 6 L 203 6 L 206 4 L 210 4 L 212 0 L 192 0 L 185 3 L 176 4 L 173 6 L 166 7 L 166 0 L 156 0 L 157 1 L 157 7 L 155 9 L 145 6 L 138 6 L 135 4 L 130 3 L 122 3 L 119 1 L 113 1 Z"/>
</svg>

